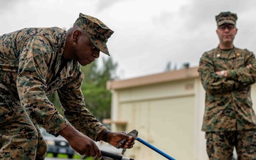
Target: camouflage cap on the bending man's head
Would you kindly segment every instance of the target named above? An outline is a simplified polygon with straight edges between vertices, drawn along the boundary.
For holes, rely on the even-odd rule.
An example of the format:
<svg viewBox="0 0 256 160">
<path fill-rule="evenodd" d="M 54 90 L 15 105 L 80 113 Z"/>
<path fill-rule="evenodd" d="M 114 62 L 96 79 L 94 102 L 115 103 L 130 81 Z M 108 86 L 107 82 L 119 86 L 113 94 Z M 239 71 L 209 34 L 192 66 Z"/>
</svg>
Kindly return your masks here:
<svg viewBox="0 0 256 160">
<path fill-rule="evenodd" d="M 80 13 L 78 19 L 75 21 L 75 25 L 87 33 L 90 41 L 92 41 L 97 49 L 102 51 L 102 53 L 110 55 L 106 43 L 114 31 L 108 28 L 105 23 L 95 17 Z"/>
</svg>

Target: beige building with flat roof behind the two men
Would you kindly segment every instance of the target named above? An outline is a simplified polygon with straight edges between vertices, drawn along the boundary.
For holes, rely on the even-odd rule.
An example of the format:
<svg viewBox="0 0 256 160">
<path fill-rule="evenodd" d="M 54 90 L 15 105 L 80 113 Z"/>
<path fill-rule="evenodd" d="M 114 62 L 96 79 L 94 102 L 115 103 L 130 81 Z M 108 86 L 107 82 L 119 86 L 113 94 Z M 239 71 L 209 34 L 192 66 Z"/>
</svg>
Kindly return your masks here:
<svg viewBox="0 0 256 160">
<path fill-rule="evenodd" d="M 108 82 L 108 89 L 112 90 L 112 119 L 105 122 L 112 124 L 113 131 L 137 129 L 141 139 L 174 159 L 208 159 L 201 132 L 205 91 L 197 68 Z M 166 159 L 140 142 L 125 156 Z"/>
</svg>

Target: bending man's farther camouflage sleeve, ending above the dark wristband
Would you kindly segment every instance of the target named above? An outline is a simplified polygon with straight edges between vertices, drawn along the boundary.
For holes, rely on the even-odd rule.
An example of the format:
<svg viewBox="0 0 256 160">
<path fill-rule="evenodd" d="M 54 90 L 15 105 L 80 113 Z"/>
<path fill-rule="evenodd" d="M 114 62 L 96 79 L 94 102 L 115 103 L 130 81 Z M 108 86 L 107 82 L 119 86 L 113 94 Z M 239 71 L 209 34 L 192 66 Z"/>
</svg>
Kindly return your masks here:
<svg viewBox="0 0 256 160">
<path fill-rule="evenodd" d="M 81 85 L 84 75 L 79 71 L 78 78 L 58 90 L 65 117 L 80 132 L 97 141 L 102 130 L 107 129 L 85 108 Z"/>
</svg>

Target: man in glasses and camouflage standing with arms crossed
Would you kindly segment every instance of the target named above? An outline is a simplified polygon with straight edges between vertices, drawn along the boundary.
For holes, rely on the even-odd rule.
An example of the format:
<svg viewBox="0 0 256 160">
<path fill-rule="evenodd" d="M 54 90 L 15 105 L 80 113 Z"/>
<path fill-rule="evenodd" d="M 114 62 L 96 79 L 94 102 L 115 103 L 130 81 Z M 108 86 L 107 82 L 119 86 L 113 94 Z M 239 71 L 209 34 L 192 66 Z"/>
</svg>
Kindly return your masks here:
<svg viewBox="0 0 256 160">
<path fill-rule="evenodd" d="M 255 55 L 236 48 L 233 41 L 238 16 L 221 12 L 215 16 L 217 48 L 203 53 L 198 73 L 206 90 L 202 130 L 206 132 L 209 159 L 256 159 L 256 117 L 250 90 L 255 83 Z"/>
</svg>

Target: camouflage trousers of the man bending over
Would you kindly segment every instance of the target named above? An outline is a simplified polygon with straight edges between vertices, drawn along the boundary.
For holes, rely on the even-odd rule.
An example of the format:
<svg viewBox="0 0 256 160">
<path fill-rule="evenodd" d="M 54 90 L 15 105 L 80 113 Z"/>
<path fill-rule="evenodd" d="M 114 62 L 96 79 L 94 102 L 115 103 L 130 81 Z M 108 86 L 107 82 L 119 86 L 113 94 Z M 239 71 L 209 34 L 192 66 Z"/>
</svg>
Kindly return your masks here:
<svg viewBox="0 0 256 160">
<path fill-rule="evenodd" d="M 0 83 L 0 159 L 45 159 L 47 144 L 18 98 Z"/>
</svg>

